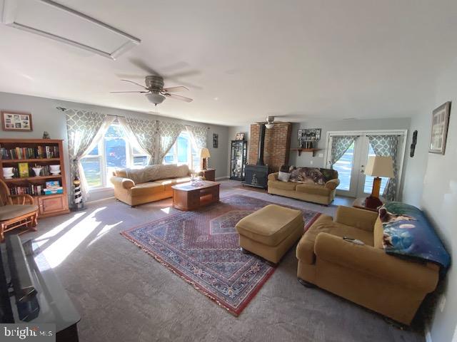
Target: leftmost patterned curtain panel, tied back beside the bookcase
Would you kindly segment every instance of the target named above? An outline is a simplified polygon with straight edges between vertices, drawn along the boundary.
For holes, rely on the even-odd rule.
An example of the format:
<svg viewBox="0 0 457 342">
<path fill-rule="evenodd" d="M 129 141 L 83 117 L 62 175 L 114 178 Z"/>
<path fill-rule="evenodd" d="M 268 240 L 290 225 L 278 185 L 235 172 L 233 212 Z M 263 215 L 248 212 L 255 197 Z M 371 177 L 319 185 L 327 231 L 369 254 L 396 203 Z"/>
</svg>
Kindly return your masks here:
<svg viewBox="0 0 457 342">
<path fill-rule="evenodd" d="M 79 177 L 79 180 L 81 180 L 81 195 L 83 199 L 87 199 L 88 186 L 86 177 L 84 177 L 81 158 L 84 158 L 94 149 L 99 140 L 105 135 L 114 117 L 79 109 L 68 109 L 65 114 L 71 163 L 71 182 L 75 177 Z"/>
</svg>

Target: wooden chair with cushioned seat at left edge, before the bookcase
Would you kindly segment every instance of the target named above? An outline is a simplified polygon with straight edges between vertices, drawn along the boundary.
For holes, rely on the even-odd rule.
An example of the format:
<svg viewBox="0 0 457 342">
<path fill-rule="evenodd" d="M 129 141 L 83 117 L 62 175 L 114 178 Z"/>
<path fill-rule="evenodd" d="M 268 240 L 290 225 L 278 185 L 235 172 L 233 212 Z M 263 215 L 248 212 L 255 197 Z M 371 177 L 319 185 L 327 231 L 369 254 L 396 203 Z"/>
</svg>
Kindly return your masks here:
<svg viewBox="0 0 457 342">
<path fill-rule="evenodd" d="M 36 231 L 38 206 L 30 195 L 11 195 L 5 182 L 0 180 L 0 242 L 4 242 L 4 233 L 11 229 L 26 226 L 29 231 Z M 21 234 L 21 233 L 20 233 Z"/>
</svg>

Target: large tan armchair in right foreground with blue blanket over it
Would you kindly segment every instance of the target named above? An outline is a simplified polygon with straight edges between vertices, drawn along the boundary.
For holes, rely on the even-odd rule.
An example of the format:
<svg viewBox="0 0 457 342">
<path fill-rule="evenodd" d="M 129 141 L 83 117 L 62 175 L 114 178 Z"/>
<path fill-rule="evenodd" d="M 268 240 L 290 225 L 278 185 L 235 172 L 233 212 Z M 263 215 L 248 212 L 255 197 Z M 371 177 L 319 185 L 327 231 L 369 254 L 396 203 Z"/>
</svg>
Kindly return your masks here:
<svg viewBox="0 0 457 342">
<path fill-rule="evenodd" d="M 335 219 L 321 215 L 298 242 L 296 257 L 298 279 L 404 324 L 438 283 L 436 264 L 386 254 L 378 214 L 363 209 L 338 207 Z"/>
</svg>

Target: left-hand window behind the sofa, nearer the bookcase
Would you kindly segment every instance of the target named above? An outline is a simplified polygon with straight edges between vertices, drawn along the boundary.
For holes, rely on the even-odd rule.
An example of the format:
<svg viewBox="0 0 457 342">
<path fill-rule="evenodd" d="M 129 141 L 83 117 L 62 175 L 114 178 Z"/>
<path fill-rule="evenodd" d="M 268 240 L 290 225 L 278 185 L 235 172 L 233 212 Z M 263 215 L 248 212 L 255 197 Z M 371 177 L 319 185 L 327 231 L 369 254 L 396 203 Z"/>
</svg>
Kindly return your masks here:
<svg viewBox="0 0 457 342">
<path fill-rule="evenodd" d="M 113 123 L 94 150 L 81 160 L 89 189 L 112 187 L 109 178 L 116 169 L 148 165 L 149 155 L 132 144 L 124 128 Z"/>
</svg>

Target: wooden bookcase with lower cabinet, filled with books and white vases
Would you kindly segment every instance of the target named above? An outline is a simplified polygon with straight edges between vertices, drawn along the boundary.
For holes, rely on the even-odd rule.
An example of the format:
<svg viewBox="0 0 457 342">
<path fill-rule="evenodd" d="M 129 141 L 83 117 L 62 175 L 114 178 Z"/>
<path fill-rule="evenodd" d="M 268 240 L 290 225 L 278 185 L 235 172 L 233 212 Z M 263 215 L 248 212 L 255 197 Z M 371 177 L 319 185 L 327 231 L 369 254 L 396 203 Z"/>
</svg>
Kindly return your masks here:
<svg viewBox="0 0 457 342">
<path fill-rule="evenodd" d="M 64 189 L 64 193 L 55 195 L 44 195 L 41 194 L 29 194 L 34 197 L 34 202 L 39 207 L 39 218 L 56 216 L 60 214 L 66 214 L 69 212 L 69 202 L 66 191 L 66 177 L 65 177 L 65 163 L 64 163 L 64 149 L 62 145 L 63 140 L 55 139 L 0 139 L 0 147 L 4 147 L 6 150 L 16 150 L 18 148 L 20 152 L 24 152 L 24 149 L 29 149 L 29 155 L 21 155 L 16 159 L 6 159 L 0 154 L 0 179 L 3 180 L 6 185 L 10 188 L 15 187 L 30 187 L 34 185 L 41 185 L 42 189 L 46 187 L 46 181 L 58 180 L 61 187 Z M 49 146 L 53 152 L 59 151 L 59 155 L 52 155 L 52 157 L 46 157 L 46 146 Z M 32 150 L 36 152 L 36 149 L 41 147 L 43 151 L 43 157 L 37 157 L 36 155 L 30 157 Z M 50 153 L 49 153 L 50 154 Z M 56 153 L 54 153 L 56 154 Z M 11 158 L 16 156 L 11 156 Z M 60 165 L 60 175 L 41 175 L 36 177 L 32 170 L 29 171 L 29 177 L 14 176 L 13 178 L 6 180 L 3 176 L 3 167 L 15 167 L 19 170 L 19 163 L 29 163 L 29 168 L 34 165 L 41 167 L 49 165 Z M 41 171 L 43 173 L 43 171 Z M 25 192 L 24 192 L 25 193 Z"/>
</svg>

